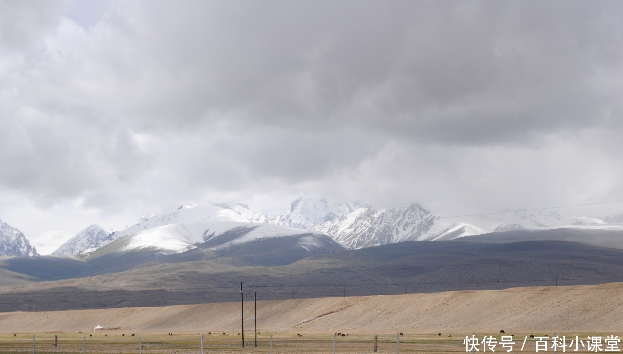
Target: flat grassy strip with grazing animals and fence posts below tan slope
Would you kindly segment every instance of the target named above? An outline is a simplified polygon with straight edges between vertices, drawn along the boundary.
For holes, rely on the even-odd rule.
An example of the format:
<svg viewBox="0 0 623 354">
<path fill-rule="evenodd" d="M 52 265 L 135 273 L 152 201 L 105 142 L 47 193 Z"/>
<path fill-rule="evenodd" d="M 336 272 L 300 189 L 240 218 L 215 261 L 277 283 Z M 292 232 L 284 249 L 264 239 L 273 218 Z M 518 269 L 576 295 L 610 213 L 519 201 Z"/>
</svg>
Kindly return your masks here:
<svg viewBox="0 0 623 354">
<path fill-rule="evenodd" d="M 436 332 L 436 331 L 435 331 Z M 249 333 L 250 334 L 250 333 Z M 259 333 L 258 333 L 259 334 Z M 180 353 L 180 354 L 206 354 L 213 352 L 226 353 L 250 353 L 263 352 L 269 354 L 285 353 L 459 353 L 466 352 L 465 337 L 475 335 L 478 338 L 483 336 L 493 337 L 493 341 L 487 343 L 487 351 L 493 352 L 503 350 L 503 352 L 535 352 L 538 341 L 541 341 L 541 351 L 554 352 L 550 347 L 553 343 L 552 338 L 558 338 L 559 346 L 566 345 L 571 351 L 573 343 L 579 335 L 586 338 L 583 334 L 591 336 L 614 337 L 620 333 L 378 333 L 374 334 L 354 334 L 354 333 L 266 333 L 258 335 L 257 340 L 242 341 L 238 332 L 217 333 L 197 333 L 195 335 L 178 333 L 154 334 L 154 333 L 123 333 L 113 331 L 97 331 L 93 333 L 39 333 L 31 335 L 19 333 L 19 335 L 0 335 L 0 352 L 2 353 L 139 353 L 139 354 L 158 354 L 158 353 Z M 502 348 L 502 335 L 507 339 Z M 564 337 L 566 335 L 566 338 Z M 534 338 L 532 338 L 534 337 Z M 510 338 L 510 339 L 508 339 Z M 546 339 L 544 339 L 546 338 Z M 618 338 L 618 337 L 617 337 Z M 548 343 L 543 350 L 542 344 Z M 612 342 L 614 347 L 619 348 L 620 342 Z M 482 350 L 481 343 L 480 349 Z M 605 347 L 605 343 L 602 347 Z M 477 345 L 478 347 L 478 345 Z M 558 347 L 561 352 L 563 347 Z M 576 349 L 576 348 L 573 348 Z M 574 352 L 589 352 L 591 347 L 578 347 Z M 611 350 L 612 351 L 612 350 Z M 614 350 L 616 351 L 616 350 Z"/>
</svg>

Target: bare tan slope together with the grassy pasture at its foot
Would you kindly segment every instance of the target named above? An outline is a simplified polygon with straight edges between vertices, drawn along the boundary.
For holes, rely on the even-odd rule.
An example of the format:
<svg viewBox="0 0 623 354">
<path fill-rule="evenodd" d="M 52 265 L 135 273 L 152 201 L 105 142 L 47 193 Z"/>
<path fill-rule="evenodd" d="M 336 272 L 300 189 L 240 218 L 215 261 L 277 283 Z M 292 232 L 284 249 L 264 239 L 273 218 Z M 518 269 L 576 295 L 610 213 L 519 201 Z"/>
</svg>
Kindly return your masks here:
<svg viewBox="0 0 623 354">
<path fill-rule="evenodd" d="M 556 332 L 568 340 L 579 335 L 585 342 L 592 335 L 621 338 L 622 304 L 623 283 L 259 301 L 257 348 L 252 301 L 244 304 L 245 348 L 240 303 L 235 302 L 8 312 L 0 314 L 0 352 L 31 352 L 35 335 L 36 352 L 80 353 L 86 336 L 87 352 L 138 353 L 140 335 L 145 354 L 199 353 L 201 333 L 206 353 L 270 352 L 271 335 L 275 354 L 332 353 L 333 335 L 340 332 L 348 335 L 336 339 L 336 352 L 372 352 L 374 335 L 379 335 L 379 352 L 395 353 L 396 333 L 402 332 L 400 352 L 450 353 L 465 352 L 465 335 L 475 332 L 479 338 L 487 334 L 499 340 L 500 330 L 515 335 L 513 352 L 520 352 L 526 335 L 551 337 Z M 121 328 L 93 331 L 96 325 Z M 579 352 L 586 349 L 579 347 Z M 506 350 L 498 346 L 496 352 Z M 526 340 L 523 352 L 535 352 L 534 339 Z"/>
</svg>

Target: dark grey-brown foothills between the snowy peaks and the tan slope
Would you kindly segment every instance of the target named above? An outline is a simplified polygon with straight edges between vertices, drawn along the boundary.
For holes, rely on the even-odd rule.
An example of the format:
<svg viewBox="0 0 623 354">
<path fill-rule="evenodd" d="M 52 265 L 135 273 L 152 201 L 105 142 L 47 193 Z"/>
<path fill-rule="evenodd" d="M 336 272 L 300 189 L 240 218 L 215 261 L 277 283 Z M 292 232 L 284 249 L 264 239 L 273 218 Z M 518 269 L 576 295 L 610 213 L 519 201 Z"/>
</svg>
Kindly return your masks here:
<svg viewBox="0 0 623 354">
<path fill-rule="evenodd" d="M 327 236 L 325 245 L 312 249 L 308 244 L 313 238 L 302 240 L 312 236 L 306 230 L 292 237 L 245 241 L 254 226 L 286 227 L 247 223 L 225 236 L 240 242 L 214 240 L 213 245 L 199 244 L 181 253 L 110 249 L 126 245 L 122 238 L 87 257 L 3 259 L 0 276 L 13 274 L 22 282 L 0 287 L 0 312 L 240 301 L 240 282 L 242 295 L 252 301 L 254 292 L 262 300 L 298 299 L 623 280 L 621 230 L 502 231 L 348 250 Z M 316 254 L 310 256 L 300 241 Z"/>
</svg>

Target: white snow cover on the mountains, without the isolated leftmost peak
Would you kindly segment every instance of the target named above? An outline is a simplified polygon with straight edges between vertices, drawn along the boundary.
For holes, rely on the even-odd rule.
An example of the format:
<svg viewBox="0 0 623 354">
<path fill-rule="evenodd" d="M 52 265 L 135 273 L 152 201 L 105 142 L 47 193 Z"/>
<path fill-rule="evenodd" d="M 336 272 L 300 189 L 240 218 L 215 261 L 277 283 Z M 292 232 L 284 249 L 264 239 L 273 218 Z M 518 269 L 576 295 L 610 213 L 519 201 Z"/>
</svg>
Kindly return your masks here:
<svg viewBox="0 0 623 354">
<path fill-rule="evenodd" d="M 138 220 L 136 225 L 109 235 L 92 225 L 67 241 L 55 254 L 88 253 L 129 235 L 131 237 L 124 238 L 124 246 L 119 251 L 158 248 L 165 253 L 179 253 L 231 233 L 235 228 L 249 230 L 225 242 L 223 247 L 310 232 L 330 236 L 346 248 L 364 248 L 400 241 L 454 240 L 497 231 L 561 227 L 622 230 L 623 224 L 552 210 L 454 217 L 433 212 L 417 203 L 373 210 L 365 203 L 332 204 L 325 199 L 297 198 L 282 215 L 255 213 L 244 204 L 235 207 L 202 204 L 149 215 Z"/>
</svg>

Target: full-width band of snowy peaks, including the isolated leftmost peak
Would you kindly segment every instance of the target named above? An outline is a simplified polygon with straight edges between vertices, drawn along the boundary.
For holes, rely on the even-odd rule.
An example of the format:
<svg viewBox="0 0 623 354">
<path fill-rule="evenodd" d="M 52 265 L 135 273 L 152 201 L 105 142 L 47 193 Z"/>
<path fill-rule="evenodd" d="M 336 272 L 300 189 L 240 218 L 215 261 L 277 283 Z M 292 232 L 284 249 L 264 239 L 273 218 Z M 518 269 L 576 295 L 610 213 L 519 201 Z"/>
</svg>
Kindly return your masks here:
<svg viewBox="0 0 623 354">
<path fill-rule="evenodd" d="M 280 215 L 253 212 L 248 205 L 242 203 L 234 207 L 224 204 L 183 205 L 173 212 L 153 213 L 140 218 L 135 225 L 113 233 L 98 225 L 88 226 L 52 254 L 69 256 L 92 253 L 98 248 L 107 246 L 121 238 L 150 229 L 155 230 L 151 233 L 141 234 L 144 244 L 128 243 L 128 245 L 136 244 L 136 247 L 158 248 L 163 253 L 179 253 L 188 250 L 189 247 L 194 247 L 188 243 L 191 239 L 193 243 L 202 242 L 195 236 L 189 238 L 186 235 L 189 231 L 183 225 L 207 220 L 272 224 L 297 230 L 313 230 L 318 234 L 329 236 L 346 248 L 358 249 L 401 241 L 454 240 L 464 236 L 513 230 L 541 230 L 559 227 L 586 230 L 623 228 L 620 223 L 623 219 L 619 219 L 621 219 L 620 216 L 607 217 L 603 220 L 575 217 L 551 210 L 453 217 L 434 212 L 419 203 L 375 210 L 363 202 L 330 203 L 324 198 L 297 198 L 290 205 L 290 210 Z M 165 225 L 182 226 L 161 228 Z M 215 229 L 214 225 L 211 227 L 213 230 L 219 229 Z M 160 233 L 166 233 L 169 238 L 179 240 L 163 243 L 157 236 Z M 24 235 L 6 223 L 2 223 L 1 235 L 1 254 L 16 256 L 34 256 L 37 254 Z M 8 235 L 12 236 L 9 237 Z M 153 237 L 151 243 L 145 241 L 146 235 Z"/>
</svg>

